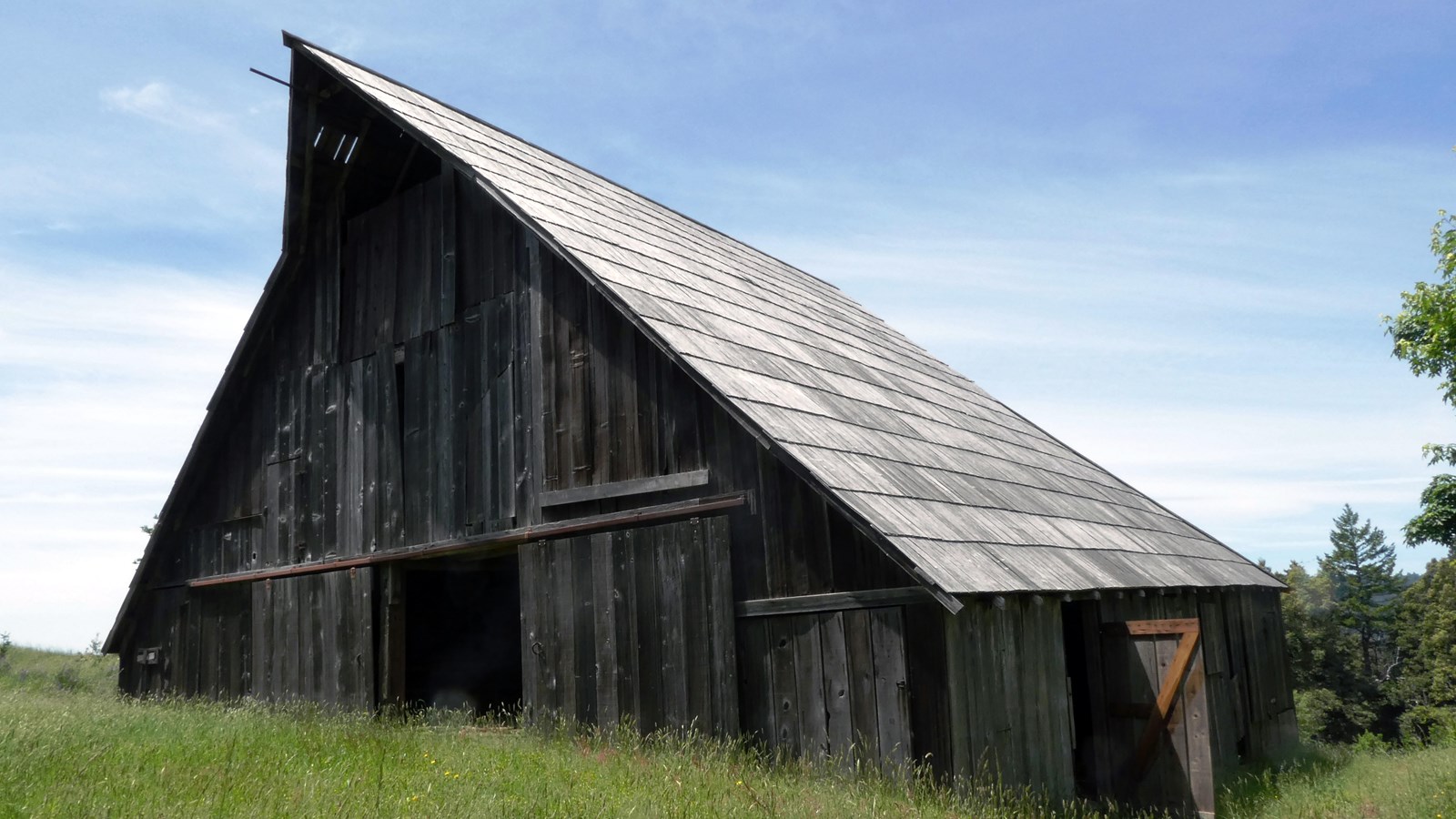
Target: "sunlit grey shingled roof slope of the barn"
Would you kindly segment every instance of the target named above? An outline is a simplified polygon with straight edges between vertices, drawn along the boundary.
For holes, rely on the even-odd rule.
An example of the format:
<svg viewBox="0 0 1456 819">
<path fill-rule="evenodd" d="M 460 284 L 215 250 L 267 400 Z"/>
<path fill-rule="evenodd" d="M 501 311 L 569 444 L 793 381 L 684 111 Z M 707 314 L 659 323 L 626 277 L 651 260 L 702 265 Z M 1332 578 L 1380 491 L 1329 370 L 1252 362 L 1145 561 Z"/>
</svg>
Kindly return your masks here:
<svg viewBox="0 0 1456 819">
<path fill-rule="evenodd" d="M 836 287 L 298 39 L 533 220 L 951 593 L 1280 586 Z"/>
</svg>

